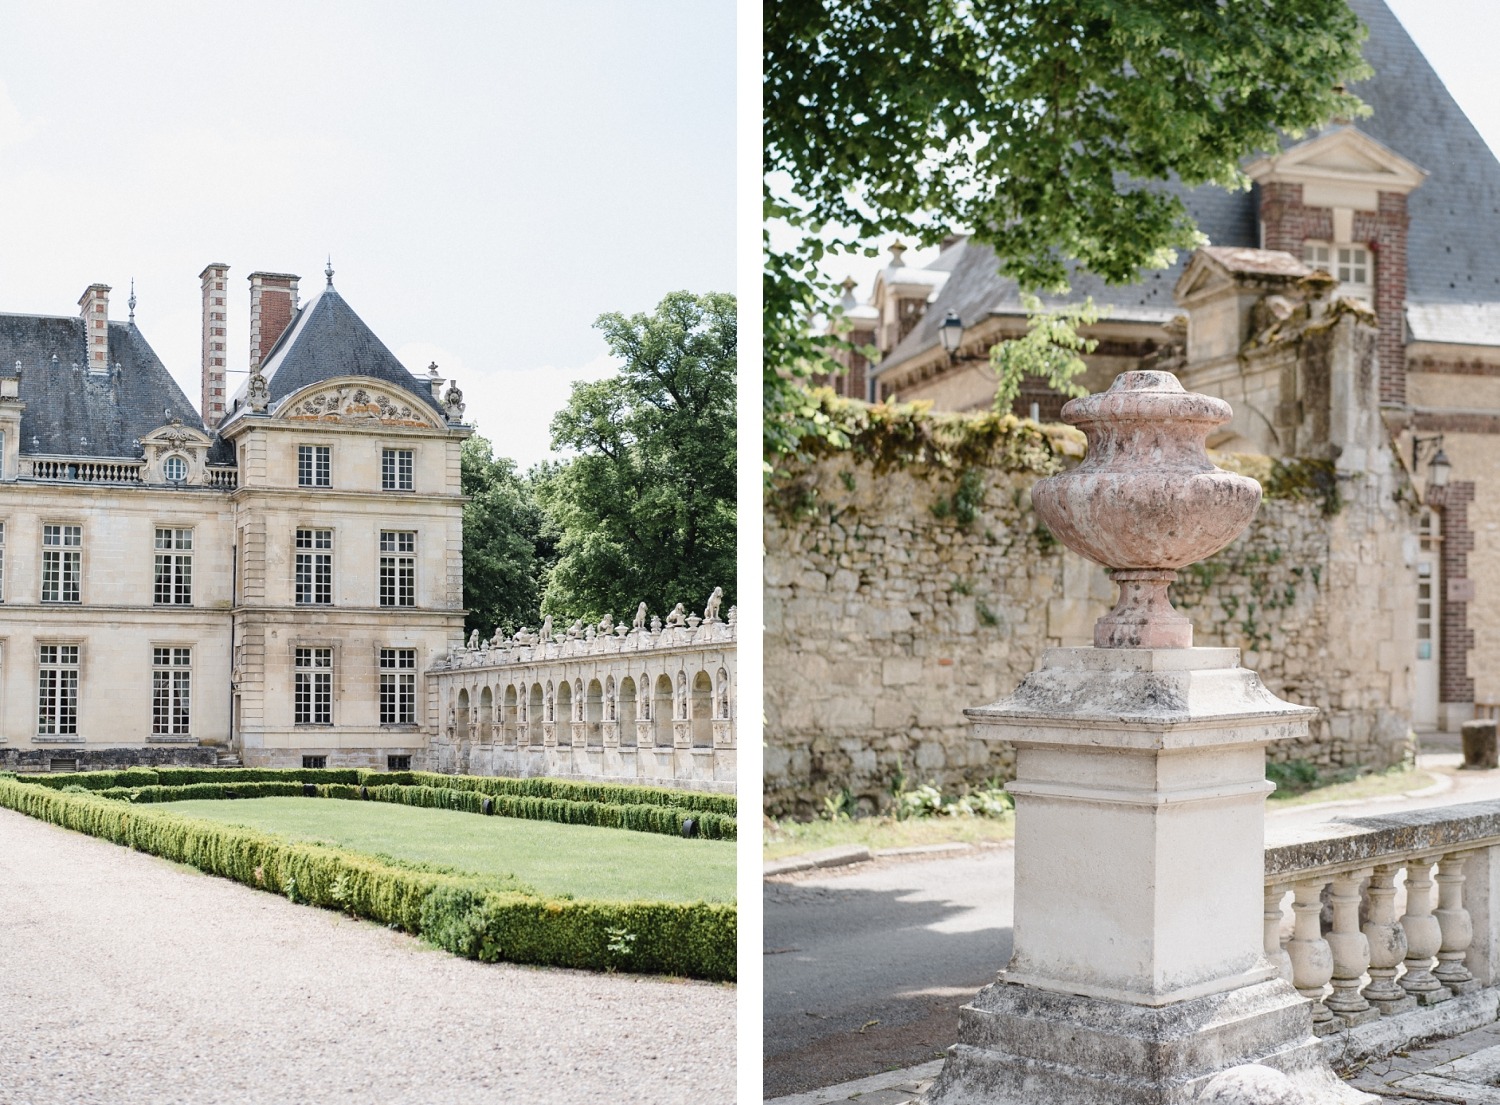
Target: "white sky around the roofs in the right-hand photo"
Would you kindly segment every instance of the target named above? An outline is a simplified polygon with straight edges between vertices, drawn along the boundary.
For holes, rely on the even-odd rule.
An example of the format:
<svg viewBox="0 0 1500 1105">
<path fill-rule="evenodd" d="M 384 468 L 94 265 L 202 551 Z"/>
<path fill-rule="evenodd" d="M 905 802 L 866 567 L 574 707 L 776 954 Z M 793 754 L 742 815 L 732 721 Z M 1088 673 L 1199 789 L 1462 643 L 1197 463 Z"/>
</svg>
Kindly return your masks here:
<svg viewBox="0 0 1500 1105">
<path fill-rule="evenodd" d="M 1496 0 L 1386 0 L 1401 25 L 1448 85 L 1458 106 L 1468 115 L 1491 150 L 1500 151 L 1500 66 L 1494 61 L 1494 37 L 1500 31 L 1500 3 Z M 884 252 L 894 238 L 880 243 L 879 258 L 837 258 L 824 270 L 842 280 L 860 282 L 855 295 L 870 295 L 874 276 L 890 259 Z M 910 243 L 908 243 L 910 244 Z M 936 246 L 909 249 L 909 265 L 926 265 L 938 256 Z"/>
</svg>

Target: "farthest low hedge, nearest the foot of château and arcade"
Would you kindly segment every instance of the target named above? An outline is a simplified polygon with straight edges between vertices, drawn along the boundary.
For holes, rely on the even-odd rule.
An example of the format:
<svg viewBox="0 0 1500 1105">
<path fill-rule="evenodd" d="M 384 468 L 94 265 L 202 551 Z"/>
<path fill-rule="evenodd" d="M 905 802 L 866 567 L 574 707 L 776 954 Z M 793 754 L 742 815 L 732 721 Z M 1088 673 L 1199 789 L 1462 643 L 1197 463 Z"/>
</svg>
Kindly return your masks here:
<svg viewBox="0 0 1500 1105">
<path fill-rule="evenodd" d="M 112 787 L 183 787 L 198 783 L 345 783 L 351 786 L 428 786 L 450 790 L 478 790 L 486 795 L 556 798 L 572 802 L 608 805 L 666 805 L 702 810 L 734 817 L 734 795 L 708 795 L 698 790 L 634 787 L 606 783 L 573 783 L 554 778 L 500 778 L 492 775 L 440 775 L 430 771 L 364 771 L 356 768 L 129 768 L 126 771 L 80 771 L 21 777 L 27 783 L 62 790 Z"/>
</svg>

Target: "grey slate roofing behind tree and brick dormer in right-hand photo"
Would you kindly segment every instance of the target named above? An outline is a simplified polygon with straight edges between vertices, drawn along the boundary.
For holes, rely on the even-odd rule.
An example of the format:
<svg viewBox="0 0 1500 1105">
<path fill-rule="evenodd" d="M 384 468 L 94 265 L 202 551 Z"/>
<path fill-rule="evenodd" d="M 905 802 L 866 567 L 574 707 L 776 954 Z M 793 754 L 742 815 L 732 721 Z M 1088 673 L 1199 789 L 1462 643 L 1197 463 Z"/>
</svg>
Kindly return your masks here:
<svg viewBox="0 0 1500 1105">
<path fill-rule="evenodd" d="M 1365 60 L 1374 76 L 1352 85 L 1371 114 L 1354 120 L 1362 132 L 1431 175 L 1407 198 L 1407 303 L 1413 340 L 1494 345 L 1500 336 L 1500 160 L 1449 94 L 1422 51 L 1384 0 L 1348 0 L 1368 27 Z M 1292 144 L 1290 139 L 1287 142 Z M 1258 189 L 1174 189 L 1214 246 L 1258 246 Z M 954 250 L 962 256 L 948 259 Z M 876 373 L 938 345 L 938 327 L 952 310 L 978 321 L 990 313 L 1022 313 L 1016 283 L 1002 279 L 994 253 L 960 244 L 944 250 L 952 276 L 921 321 Z M 1092 295 L 1110 318 L 1161 322 L 1178 313 L 1172 288 L 1188 256 L 1148 273 L 1140 283 L 1110 286 L 1076 271 L 1066 301 Z M 1048 300 L 1044 297 L 1044 303 Z M 1050 300 L 1059 303 L 1062 300 Z M 1460 306 L 1461 304 L 1461 306 Z"/>
</svg>

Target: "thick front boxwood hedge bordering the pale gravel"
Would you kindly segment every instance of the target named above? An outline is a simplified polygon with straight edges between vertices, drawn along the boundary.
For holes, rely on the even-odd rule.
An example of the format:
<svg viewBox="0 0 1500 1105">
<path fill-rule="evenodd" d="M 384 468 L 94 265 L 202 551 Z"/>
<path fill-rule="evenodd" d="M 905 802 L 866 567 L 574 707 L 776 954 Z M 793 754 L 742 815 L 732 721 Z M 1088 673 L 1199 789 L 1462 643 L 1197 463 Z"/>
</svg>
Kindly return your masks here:
<svg viewBox="0 0 1500 1105">
<path fill-rule="evenodd" d="M 0 778 L 0 807 L 294 901 L 378 921 L 456 955 L 586 970 L 735 978 L 736 910 L 722 903 L 550 900 L 477 876 L 398 865 L 358 852 L 292 843 L 236 825 L 6 778 Z"/>
</svg>

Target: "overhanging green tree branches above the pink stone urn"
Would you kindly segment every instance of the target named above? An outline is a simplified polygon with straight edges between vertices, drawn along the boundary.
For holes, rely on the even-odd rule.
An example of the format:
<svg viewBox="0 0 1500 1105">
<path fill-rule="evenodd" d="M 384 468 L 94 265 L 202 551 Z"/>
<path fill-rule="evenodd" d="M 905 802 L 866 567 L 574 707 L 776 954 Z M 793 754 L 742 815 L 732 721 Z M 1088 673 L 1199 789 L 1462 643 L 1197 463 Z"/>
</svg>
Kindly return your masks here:
<svg viewBox="0 0 1500 1105">
<path fill-rule="evenodd" d="M 1024 291 L 1130 282 L 1198 243 L 1164 181 L 1245 187 L 1245 154 L 1362 111 L 1362 37 L 1344 0 L 766 4 L 766 451 L 818 429 L 828 253 L 966 228 Z"/>
</svg>

